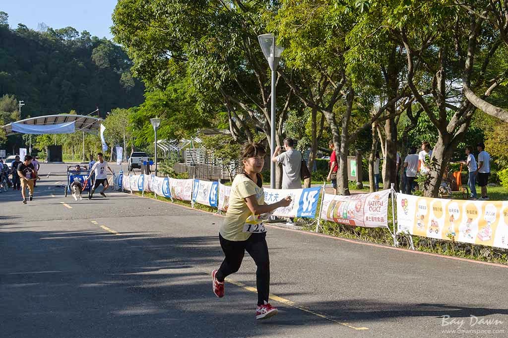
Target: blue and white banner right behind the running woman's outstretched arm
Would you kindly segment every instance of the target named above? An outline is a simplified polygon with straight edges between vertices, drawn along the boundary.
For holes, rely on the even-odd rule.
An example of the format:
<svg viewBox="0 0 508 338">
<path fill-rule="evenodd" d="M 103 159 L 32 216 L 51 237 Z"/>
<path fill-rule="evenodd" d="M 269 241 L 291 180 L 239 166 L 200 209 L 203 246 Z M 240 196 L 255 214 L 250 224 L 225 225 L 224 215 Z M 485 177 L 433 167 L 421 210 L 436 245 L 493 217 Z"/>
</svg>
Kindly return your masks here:
<svg viewBox="0 0 508 338">
<path fill-rule="evenodd" d="M 286 196 L 291 196 L 291 204 L 288 207 L 275 209 L 272 215 L 278 217 L 315 218 L 321 187 L 304 189 L 264 188 L 264 191 L 265 204 L 272 204 Z"/>
</svg>

